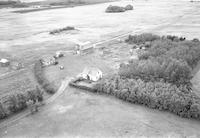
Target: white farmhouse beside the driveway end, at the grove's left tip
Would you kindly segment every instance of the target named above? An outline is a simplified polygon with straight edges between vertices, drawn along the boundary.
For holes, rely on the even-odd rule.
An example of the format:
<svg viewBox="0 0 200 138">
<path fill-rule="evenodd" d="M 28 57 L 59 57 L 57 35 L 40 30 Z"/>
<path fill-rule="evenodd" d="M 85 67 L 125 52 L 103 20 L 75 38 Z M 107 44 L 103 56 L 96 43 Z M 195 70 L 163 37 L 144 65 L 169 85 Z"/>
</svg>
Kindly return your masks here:
<svg viewBox="0 0 200 138">
<path fill-rule="evenodd" d="M 78 75 L 78 77 L 82 77 L 84 79 L 91 81 L 98 81 L 102 78 L 102 76 L 103 76 L 102 71 L 94 67 L 85 68 L 83 72 L 80 75 Z"/>
</svg>

